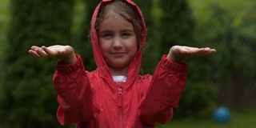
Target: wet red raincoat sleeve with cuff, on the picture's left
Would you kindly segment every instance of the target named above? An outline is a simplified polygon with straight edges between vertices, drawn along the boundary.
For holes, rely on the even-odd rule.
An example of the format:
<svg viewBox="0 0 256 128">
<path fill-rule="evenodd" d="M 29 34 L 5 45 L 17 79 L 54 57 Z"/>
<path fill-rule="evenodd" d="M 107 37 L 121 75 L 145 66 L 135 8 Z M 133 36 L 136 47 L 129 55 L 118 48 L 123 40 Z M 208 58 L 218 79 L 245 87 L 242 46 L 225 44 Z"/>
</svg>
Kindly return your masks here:
<svg viewBox="0 0 256 128">
<path fill-rule="evenodd" d="M 57 64 L 54 89 L 58 94 L 58 122 L 65 126 L 74 122 L 88 122 L 97 109 L 93 106 L 92 90 L 80 55 L 71 65 Z"/>
</svg>

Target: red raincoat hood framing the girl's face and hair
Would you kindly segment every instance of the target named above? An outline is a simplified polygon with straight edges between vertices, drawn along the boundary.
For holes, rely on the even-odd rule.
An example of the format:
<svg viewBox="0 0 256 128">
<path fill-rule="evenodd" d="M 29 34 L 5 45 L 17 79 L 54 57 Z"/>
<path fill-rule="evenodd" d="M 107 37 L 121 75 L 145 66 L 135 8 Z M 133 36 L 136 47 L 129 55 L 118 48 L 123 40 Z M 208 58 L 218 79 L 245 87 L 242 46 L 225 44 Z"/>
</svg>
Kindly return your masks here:
<svg viewBox="0 0 256 128">
<path fill-rule="evenodd" d="M 95 29 L 95 22 L 98 16 L 98 11 L 102 8 L 102 6 L 104 6 L 104 4 L 106 4 L 106 2 L 113 2 L 113 0 L 102 0 L 102 2 L 100 2 L 98 4 L 98 6 L 96 7 L 96 9 L 94 10 L 94 14 L 91 20 L 91 30 L 90 30 L 90 38 L 91 38 L 91 42 L 92 42 L 92 46 L 93 46 L 93 52 L 94 52 L 94 60 L 97 64 L 97 70 L 99 71 L 99 73 L 102 75 L 102 78 L 110 78 L 111 74 L 110 74 L 110 70 L 106 64 L 106 61 L 104 60 L 103 56 L 102 56 L 102 52 L 100 50 L 99 47 L 99 43 L 98 43 L 98 34 L 97 31 Z M 144 47 L 144 44 L 146 42 L 146 24 L 144 22 L 144 18 L 142 16 L 142 11 L 138 8 L 138 6 L 130 1 L 130 0 L 126 0 L 126 2 L 128 2 L 130 5 L 132 5 L 134 7 L 134 10 L 137 11 L 139 17 L 142 20 L 142 34 L 143 34 L 143 38 L 142 38 L 142 45 L 141 47 L 138 49 L 137 54 L 135 54 L 134 58 L 132 59 L 132 61 L 130 62 L 130 66 L 127 72 L 127 78 L 128 81 L 130 80 L 134 80 L 134 78 L 136 76 L 138 76 L 140 67 L 141 67 L 141 61 L 142 61 L 142 49 Z M 112 78 L 112 77 L 111 77 Z"/>
</svg>

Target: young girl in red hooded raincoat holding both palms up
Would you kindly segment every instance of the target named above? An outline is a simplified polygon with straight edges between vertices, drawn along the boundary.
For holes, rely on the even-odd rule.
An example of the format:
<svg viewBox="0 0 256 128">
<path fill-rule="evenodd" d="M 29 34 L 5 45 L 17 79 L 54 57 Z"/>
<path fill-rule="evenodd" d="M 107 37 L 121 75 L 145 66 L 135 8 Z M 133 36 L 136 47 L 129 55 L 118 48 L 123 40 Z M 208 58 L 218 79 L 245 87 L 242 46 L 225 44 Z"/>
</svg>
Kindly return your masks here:
<svg viewBox="0 0 256 128">
<path fill-rule="evenodd" d="M 172 46 L 154 75 L 139 75 L 146 26 L 142 12 L 130 0 L 103 0 L 91 21 L 91 42 L 98 68 L 86 71 L 71 46 L 32 46 L 35 57 L 58 58 L 54 89 L 58 121 L 78 128 L 142 128 L 166 123 L 178 107 L 186 85 L 190 56 L 216 50 Z"/>
</svg>

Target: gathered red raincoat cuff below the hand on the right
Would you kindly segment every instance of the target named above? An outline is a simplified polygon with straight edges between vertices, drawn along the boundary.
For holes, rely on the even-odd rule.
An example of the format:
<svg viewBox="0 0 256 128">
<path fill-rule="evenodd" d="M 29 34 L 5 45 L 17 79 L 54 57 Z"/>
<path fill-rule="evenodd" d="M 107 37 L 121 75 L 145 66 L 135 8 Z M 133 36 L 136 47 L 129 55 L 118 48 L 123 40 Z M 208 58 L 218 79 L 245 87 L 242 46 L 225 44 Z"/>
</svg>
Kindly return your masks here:
<svg viewBox="0 0 256 128">
<path fill-rule="evenodd" d="M 163 55 L 161 58 L 161 63 L 163 66 L 166 66 L 166 68 L 179 73 L 186 73 L 189 69 L 189 66 L 186 64 L 186 62 L 182 62 L 181 64 L 178 64 L 176 62 L 171 62 L 167 57 L 167 54 Z"/>
</svg>

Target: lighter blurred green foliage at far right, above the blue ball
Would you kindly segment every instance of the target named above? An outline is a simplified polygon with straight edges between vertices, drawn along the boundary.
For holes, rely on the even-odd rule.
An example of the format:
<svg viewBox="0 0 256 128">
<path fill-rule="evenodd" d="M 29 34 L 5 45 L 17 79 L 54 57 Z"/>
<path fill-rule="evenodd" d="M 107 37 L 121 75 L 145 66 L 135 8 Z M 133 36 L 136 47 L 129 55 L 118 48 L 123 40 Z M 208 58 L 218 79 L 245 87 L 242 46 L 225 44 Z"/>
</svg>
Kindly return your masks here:
<svg viewBox="0 0 256 128">
<path fill-rule="evenodd" d="M 218 103 L 232 107 L 254 106 L 256 2 L 225 0 L 190 2 L 194 6 L 198 38 L 214 46 L 210 81 L 218 87 Z"/>
</svg>

